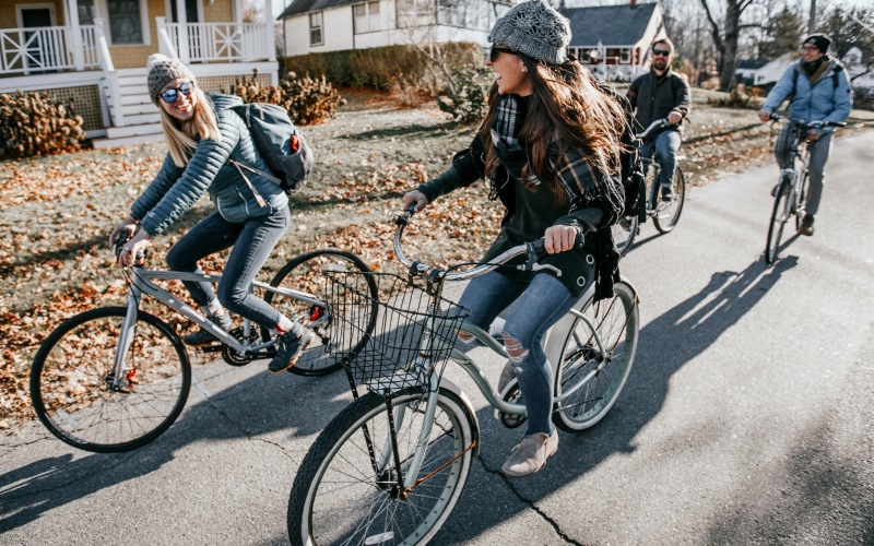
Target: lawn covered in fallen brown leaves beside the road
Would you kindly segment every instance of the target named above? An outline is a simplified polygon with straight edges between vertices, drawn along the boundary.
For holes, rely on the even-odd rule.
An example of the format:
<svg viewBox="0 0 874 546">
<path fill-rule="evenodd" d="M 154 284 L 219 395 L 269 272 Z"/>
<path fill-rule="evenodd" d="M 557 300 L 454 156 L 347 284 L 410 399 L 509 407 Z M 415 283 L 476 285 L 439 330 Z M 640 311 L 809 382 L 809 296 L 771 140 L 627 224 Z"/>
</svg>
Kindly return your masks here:
<svg viewBox="0 0 874 546">
<path fill-rule="evenodd" d="M 767 126 L 755 110 L 697 106 L 687 127 L 687 182 L 707 183 L 770 157 Z M 848 131 L 850 132 L 850 131 Z M 259 276 L 269 281 L 305 250 L 336 247 L 374 269 L 391 269 L 389 218 L 401 195 L 445 169 L 466 146 L 470 128 L 454 127 L 434 108 L 379 109 L 351 105 L 335 120 L 307 128 L 317 154 L 308 185 L 293 198 L 294 224 Z M 0 429 L 31 418 L 27 376 L 42 340 L 62 320 L 102 305 L 123 305 L 127 286 L 106 239 L 157 173 L 166 150 L 140 145 L 0 163 Z M 474 261 L 497 233 L 503 210 L 483 183 L 442 198 L 416 216 L 405 253 L 448 265 Z M 153 245 L 163 257 L 211 204 L 201 200 Z M 203 264 L 220 272 L 225 256 Z M 178 286 L 174 290 L 185 297 Z M 147 305 L 174 321 L 170 314 Z M 177 324 L 177 329 L 187 329 Z"/>
</svg>

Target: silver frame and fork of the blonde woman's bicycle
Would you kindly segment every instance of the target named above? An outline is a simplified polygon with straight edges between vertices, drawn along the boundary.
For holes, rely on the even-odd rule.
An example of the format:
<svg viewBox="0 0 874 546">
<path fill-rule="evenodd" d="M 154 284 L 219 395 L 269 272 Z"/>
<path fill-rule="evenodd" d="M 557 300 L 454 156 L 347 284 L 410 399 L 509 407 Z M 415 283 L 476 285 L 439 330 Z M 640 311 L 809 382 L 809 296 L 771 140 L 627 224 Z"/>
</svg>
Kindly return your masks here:
<svg viewBox="0 0 874 546">
<path fill-rule="evenodd" d="M 130 347 L 131 340 L 133 340 L 133 330 L 137 325 L 137 318 L 140 311 L 140 301 L 142 299 L 143 294 L 146 296 L 152 297 L 154 300 L 169 307 L 174 311 L 178 312 L 179 314 L 184 316 L 194 324 L 208 330 L 212 333 L 215 337 L 217 337 L 222 343 L 225 345 L 231 346 L 234 351 L 246 354 L 251 352 L 261 351 L 263 348 L 270 347 L 274 345 L 276 342 L 275 340 L 270 340 L 263 343 L 252 343 L 250 342 L 250 334 L 252 330 L 252 323 L 249 319 L 244 319 L 243 323 L 243 342 L 231 335 L 229 333 L 225 332 L 217 325 L 213 324 L 212 321 L 206 319 L 205 316 L 200 313 L 197 309 L 189 306 L 185 301 L 181 301 L 175 295 L 169 293 L 168 290 L 162 288 L 161 286 L 153 283 L 153 280 L 163 280 L 163 281 L 193 281 L 193 282 L 209 282 L 209 283 L 217 283 L 221 281 L 222 275 L 211 275 L 208 273 L 188 273 L 188 272 L 178 272 L 178 271 L 158 271 L 158 270 L 146 270 L 141 266 L 133 266 L 130 270 L 130 292 L 128 294 L 128 305 L 127 305 L 127 313 L 125 314 L 125 320 L 121 323 L 121 332 L 118 339 L 118 349 L 116 351 L 116 360 L 114 363 L 113 372 L 114 372 L 114 380 L 113 380 L 113 389 L 121 390 L 125 388 L 126 383 L 126 368 L 125 368 L 125 355 L 128 354 L 128 348 Z M 307 294 L 305 292 L 295 290 L 291 288 L 282 288 L 279 286 L 271 286 L 265 283 L 261 283 L 259 281 L 253 281 L 252 284 L 249 286 L 249 292 L 252 292 L 253 288 L 261 288 L 267 292 L 273 292 L 290 298 L 298 299 L 300 301 L 305 301 L 309 305 L 317 305 L 323 307 L 324 309 L 329 309 L 324 301 L 316 299 L 316 296 L 312 294 Z M 330 312 L 326 312 L 323 317 L 320 317 L 317 323 L 321 324 L 330 320 Z"/>
</svg>

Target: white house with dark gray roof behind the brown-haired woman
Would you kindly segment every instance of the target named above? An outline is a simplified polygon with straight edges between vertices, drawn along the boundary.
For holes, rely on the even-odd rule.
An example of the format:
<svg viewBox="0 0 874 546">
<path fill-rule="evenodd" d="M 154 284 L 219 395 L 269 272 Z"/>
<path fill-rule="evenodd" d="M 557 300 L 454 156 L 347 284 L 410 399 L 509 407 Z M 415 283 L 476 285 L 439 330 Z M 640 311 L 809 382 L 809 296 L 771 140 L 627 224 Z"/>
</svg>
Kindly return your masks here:
<svg viewBox="0 0 874 546">
<path fill-rule="evenodd" d="M 570 21 L 570 51 L 595 75 L 631 81 L 650 68 L 649 50 L 665 35 L 656 3 L 599 5 L 560 10 Z"/>
</svg>

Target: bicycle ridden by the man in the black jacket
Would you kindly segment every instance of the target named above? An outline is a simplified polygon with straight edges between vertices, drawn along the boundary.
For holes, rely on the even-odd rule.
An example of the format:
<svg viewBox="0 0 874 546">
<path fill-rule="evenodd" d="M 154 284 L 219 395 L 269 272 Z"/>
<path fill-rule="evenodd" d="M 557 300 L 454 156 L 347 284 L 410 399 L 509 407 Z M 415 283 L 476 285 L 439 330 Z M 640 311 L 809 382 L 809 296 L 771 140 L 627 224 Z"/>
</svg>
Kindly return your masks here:
<svg viewBox="0 0 874 546">
<path fill-rule="evenodd" d="M 659 130 L 669 127 L 671 123 L 668 119 L 657 119 L 643 132 L 638 133 L 636 136 L 639 142 L 649 142 L 656 138 Z M 619 222 L 613 225 L 613 240 L 616 242 L 616 248 L 619 254 L 625 254 L 631 248 L 635 241 L 635 236 L 640 233 L 640 222 L 646 221 L 647 217 L 652 218 L 652 224 L 656 229 L 661 234 L 670 233 L 676 223 L 680 221 L 680 214 L 683 212 L 683 204 L 686 202 L 686 178 L 683 175 L 683 169 L 680 165 L 674 170 L 674 178 L 672 183 L 673 197 L 664 201 L 659 195 L 659 176 L 661 175 L 661 166 L 654 158 L 656 146 L 651 147 L 649 157 L 641 157 L 640 162 L 643 166 L 643 174 L 646 177 L 646 209 L 645 213 L 638 216 L 626 216 L 619 218 Z M 677 155 L 677 162 L 683 159 L 683 156 Z M 647 194 L 648 193 L 648 194 Z"/>
</svg>

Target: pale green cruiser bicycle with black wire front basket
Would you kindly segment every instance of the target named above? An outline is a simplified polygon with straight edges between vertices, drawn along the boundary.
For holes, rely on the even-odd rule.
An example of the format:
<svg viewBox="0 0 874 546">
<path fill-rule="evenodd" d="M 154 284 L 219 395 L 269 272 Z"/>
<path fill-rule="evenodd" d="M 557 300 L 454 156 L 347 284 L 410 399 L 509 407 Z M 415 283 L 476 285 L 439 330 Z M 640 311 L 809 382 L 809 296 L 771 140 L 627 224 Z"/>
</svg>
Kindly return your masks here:
<svg viewBox="0 0 874 546">
<path fill-rule="evenodd" d="M 479 454 L 480 427 L 468 396 L 442 376 L 447 360 L 461 366 L 494 406 L 501 423 L 525 419 L 519 388 L 491 385 L 468 355 L 454 348 L 459 331 L 507 358 L 504 345 L 464 321 L 466 310 L 445 299 L 445 281 L 482 275 L 520 254 L 527 271 L 542 268 L 543 240 L 512 248 L 465 272 L 441 271 L 409 260 L 401 235 L 412 210 L 399 216 L 394 253 L 409 276 L 368 273 L 380 287 L 379 320 L 367 345 L 345 361 L 356 400 L 324 428 L 298 470 L 288 501 L 292 544 L 424 544 L 444 524 Z M 365 276 L 332 274 L 339 320 L 370 305 Z M 544 349 L 555 366 L 553 420 L 581 431 L 613 407 L 637 351 L 639 310 L 635 288 L 622 281 L 612 298 L 593 299 L 594 283 L 547 333 Z M 344 331 L 355 331 L 346 328 Z M 367 393 L 357 396 L 355 384 Z"/>
</svg>

